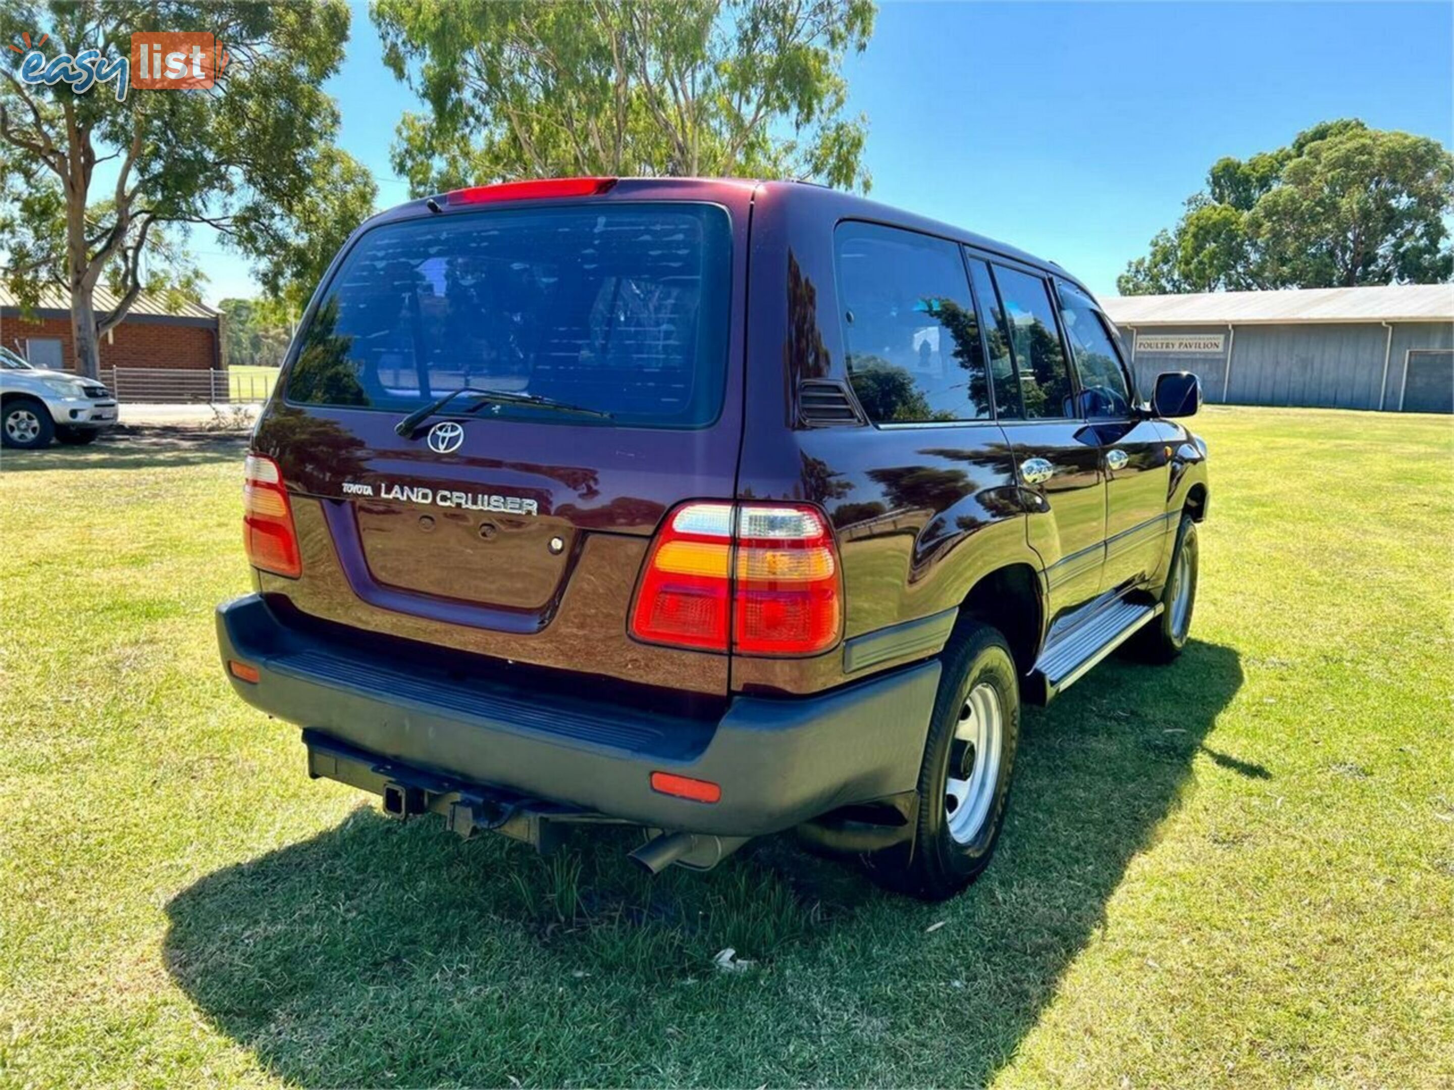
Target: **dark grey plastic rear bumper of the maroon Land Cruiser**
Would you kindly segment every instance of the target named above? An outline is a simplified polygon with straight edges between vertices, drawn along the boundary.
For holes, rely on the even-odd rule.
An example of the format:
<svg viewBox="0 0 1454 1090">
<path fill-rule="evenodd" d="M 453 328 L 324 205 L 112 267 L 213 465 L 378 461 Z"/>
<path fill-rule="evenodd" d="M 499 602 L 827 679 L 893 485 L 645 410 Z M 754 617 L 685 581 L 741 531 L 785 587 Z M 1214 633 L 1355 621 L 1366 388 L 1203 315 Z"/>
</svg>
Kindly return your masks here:
<svg viewBox="0 0 1454 1090">
<path fill-rule="evenodd" d="M 404 767 L 721 836 L 776 833 L 838 807 L 913 791 L 939 682 L 935 660 L 823 696 L 737 696 L 718 721 L 704 722 L 592 702 L 589 692 L 401 667 L 286 625 L 257 594 L 220 606 L 217 635 L 224 669 L 230 658 L 257 669 L 256 683 L 228 673 L 238 696 L 305 728 L 310 753 L 333 746 L 352 754 L 349 775 L 310 759 L 313 775 L 379 789 L 374 785 L 387 769 Z M 580 689 L 589 690 L 589 679 Z M 356 769 L 371 759 L 381 772 L 361 779 Z M 654 770 L 717 783 L 721 799 L 657 794 Z"/>
</svg>

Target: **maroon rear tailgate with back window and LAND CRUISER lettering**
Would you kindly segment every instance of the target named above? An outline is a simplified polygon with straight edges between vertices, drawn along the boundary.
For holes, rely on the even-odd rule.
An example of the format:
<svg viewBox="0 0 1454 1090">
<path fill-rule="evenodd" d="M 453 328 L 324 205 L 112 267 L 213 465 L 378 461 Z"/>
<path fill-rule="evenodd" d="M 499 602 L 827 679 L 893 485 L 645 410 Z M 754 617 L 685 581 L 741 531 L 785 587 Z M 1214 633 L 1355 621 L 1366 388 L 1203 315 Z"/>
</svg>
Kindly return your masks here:
<svg viewBox="0 0 1454 1090">
<path fill-rule="evenodd" d="M 361 626 L 382 609 L 455 645 L 448 629 L 489 632 L 464 645 L 555 666 L 551 628 L 574 607 L 574 642 L 593 623 L 615 645 L 630 558 L 666 510 L 734 494 L 749 206 L 744 185 L 622 182 L 362 230 L 256 439 L 318 501 L 352 590 L 310 596 L 305 567 L 300 607 Z"/>
</svg>

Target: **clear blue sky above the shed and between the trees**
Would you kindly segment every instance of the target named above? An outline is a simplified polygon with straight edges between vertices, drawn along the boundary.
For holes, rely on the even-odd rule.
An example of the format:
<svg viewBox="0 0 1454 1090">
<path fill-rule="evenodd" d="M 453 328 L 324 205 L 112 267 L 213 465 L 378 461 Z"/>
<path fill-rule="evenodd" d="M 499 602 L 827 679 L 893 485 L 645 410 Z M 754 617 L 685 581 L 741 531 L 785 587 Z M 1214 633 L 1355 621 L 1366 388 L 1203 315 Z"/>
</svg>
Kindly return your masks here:
<svg viewBox="0 0 1454 1090">
<path fill-rule="evenodd" d="M 1358 116 L 1454 147 L 1454 4 L 883 3 L 849 61 L 872 196 L 1060 262 L 1111 294 L 1220 156 Z M 379 205 L 406 199 L 388 148 L 416 106 L 366 7 L 329 89 Z M 198 234 L 208 299 L 256 292 Z"/>
</svg>

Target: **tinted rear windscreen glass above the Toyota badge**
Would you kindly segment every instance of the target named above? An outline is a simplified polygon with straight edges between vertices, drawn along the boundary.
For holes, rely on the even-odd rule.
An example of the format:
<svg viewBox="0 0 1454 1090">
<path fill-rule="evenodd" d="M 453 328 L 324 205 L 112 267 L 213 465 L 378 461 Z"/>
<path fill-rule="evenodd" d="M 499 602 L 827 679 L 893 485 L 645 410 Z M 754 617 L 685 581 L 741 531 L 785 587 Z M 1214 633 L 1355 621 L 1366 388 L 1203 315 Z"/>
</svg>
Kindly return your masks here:
<svg viewBox="0 0 1454 1090">
<path fill-rule="evenodd" d="M 616 424 L 701 427 L 721 408 L 730 265 L 727 214 L 710 205 L 378 227 L 313 314 L 288 400 L 409 411 L 477 387 L 611 413 Z M 503 414 L 580 421 L 528 407 Z"/>
</svg>

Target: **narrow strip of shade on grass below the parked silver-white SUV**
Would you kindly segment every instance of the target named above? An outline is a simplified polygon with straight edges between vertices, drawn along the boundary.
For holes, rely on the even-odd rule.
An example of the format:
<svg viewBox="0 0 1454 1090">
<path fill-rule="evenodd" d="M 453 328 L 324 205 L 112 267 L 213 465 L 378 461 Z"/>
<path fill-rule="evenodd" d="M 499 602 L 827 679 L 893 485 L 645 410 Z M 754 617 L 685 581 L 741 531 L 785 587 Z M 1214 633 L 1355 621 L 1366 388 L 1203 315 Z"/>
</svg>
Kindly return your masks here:
<svg viewBox="0 0 1454 1090">
<path fill-rule="evenodd" d="M 52 443 L 44 451 L 7 449 L 0 458 L 0 471 L 172 469 L 180 465 L 241 464 L 247 435 L 172 424 L 121 426 L 86 446 Z"/>
</svg>

